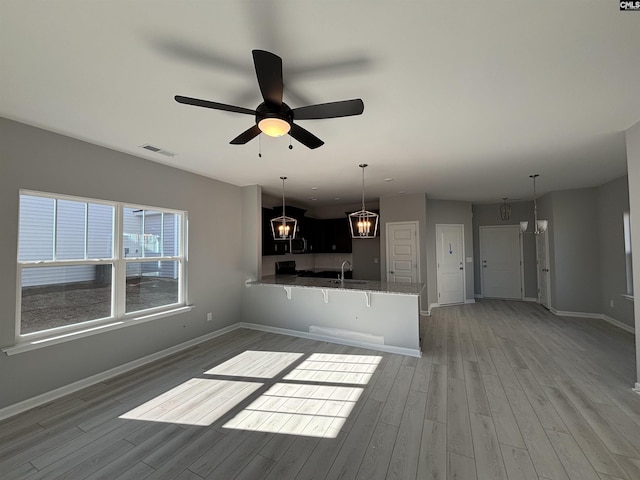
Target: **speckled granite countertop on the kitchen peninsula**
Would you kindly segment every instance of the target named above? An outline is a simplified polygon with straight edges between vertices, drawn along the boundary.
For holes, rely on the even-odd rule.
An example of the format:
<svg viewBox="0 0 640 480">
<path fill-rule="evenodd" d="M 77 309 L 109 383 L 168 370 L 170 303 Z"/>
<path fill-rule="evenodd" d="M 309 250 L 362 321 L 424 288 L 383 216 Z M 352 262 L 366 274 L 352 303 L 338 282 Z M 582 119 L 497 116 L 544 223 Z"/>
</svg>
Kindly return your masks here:
<svg viewBox="0 0 640 480">
<path fill-rule="evenodd" d="M 261 280 L 247 282 L 251 285 L 270 285 L 295 288 L 320 288 L 330 290 L 353 290 L 370 293 L 388 293 L 392 295 L 420 295 L 424 283 L 396 283 L 373 280 L 350 280 L 343 282 L 332 278 L 298 277 L 296 275 L 268 275 Z"/>
</svg>

